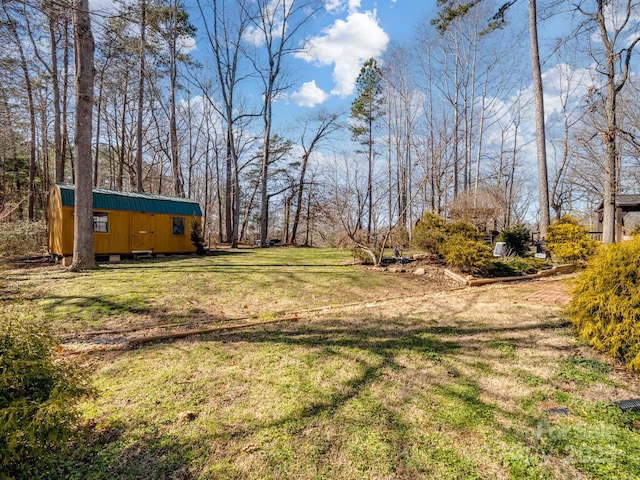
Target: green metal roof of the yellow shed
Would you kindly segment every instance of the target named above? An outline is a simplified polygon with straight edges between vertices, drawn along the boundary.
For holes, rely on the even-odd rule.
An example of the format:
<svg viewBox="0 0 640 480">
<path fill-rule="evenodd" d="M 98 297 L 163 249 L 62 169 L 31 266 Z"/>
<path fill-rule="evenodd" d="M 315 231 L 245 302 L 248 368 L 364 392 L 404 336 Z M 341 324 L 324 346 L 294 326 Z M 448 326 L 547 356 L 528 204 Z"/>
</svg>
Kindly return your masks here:
<svg viewBox="0 0 640 480">
<path fill-rule="evenodd" d="M 73 185 L 57 183 L 63 207 L 74 206 Z M 93 208 L 104 210 L 128 210 L 133 212 L 168 213 L 174 215 L 202 216 L 198 202 L 181 197 L 165 197 L 150 193 L 116 192 L 103 188 L 93 189 Z"/>
</svg>

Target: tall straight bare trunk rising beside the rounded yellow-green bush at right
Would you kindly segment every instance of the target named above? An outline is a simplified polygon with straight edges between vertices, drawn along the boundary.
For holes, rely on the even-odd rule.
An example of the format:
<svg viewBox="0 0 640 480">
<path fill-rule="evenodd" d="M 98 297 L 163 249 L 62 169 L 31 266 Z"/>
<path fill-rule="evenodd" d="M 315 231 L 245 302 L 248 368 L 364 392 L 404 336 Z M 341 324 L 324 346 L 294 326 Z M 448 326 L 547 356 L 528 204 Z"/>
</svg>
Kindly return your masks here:
<svg viewBox="0 0 640 480">
<path fill-rule="evenodd" d="M 538 49 L 538 18 L 536 0 L 529 0 L 529 47 L 533 71 L 533 95 L 536 104 L 536 146 L 538 150 L 538 189 L 540 192 L 540 237 L 547 235 L 550 225 L 549 181 L 547 179 L 547 143 L 544 129 L 544 97 Z"/>
</svg>

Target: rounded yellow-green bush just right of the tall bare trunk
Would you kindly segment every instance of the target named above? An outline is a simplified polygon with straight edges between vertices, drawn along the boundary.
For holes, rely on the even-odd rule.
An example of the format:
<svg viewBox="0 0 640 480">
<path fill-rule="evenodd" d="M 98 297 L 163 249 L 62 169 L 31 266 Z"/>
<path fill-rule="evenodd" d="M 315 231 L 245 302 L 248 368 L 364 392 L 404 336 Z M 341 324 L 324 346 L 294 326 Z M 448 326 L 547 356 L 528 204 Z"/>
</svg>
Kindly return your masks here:
<svg viewBox="0 0 640 480">
<path fill-rule="evenodd" d="M 547 248 L 559 262 L 581 264 L 591 257 L 598 242 L 575 219 L 565 215 L 547 229 Z"/>
</svg>

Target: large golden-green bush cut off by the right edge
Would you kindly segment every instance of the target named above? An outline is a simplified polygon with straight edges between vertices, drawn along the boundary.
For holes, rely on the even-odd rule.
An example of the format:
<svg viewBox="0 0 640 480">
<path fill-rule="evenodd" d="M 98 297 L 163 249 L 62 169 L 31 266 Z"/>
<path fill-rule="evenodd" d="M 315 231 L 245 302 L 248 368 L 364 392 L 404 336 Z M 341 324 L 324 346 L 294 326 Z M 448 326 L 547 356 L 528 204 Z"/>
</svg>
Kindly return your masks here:
<svg viewBox="0 0 640 480">
<path fill-rule="evenodd" d="M 567 307 L 580 336 L 640 372 L 640 239 L 609 244 L 578 276 Z"/>
</svg>

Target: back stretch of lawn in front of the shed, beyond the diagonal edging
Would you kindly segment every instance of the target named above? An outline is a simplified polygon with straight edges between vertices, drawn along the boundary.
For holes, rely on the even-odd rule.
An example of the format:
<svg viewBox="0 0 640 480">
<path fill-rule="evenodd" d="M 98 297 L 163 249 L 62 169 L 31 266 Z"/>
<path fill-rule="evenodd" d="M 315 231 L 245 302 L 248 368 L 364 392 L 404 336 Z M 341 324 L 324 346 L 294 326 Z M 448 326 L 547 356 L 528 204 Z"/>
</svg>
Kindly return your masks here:
<svg viewBox="0 0 640 480">
<path fill-rule="evenodd" d="M 25 285 L 48 318 L 69 331 L 107 324 L 224 321 L 393 294 L 380 274 L 345 266 L 331 249 L 222 251 L 202 258 L 103 264 L 75 275 L 47 270 Z M 419 294 L 416 282 L 399 282 Z"/>
</svg>

